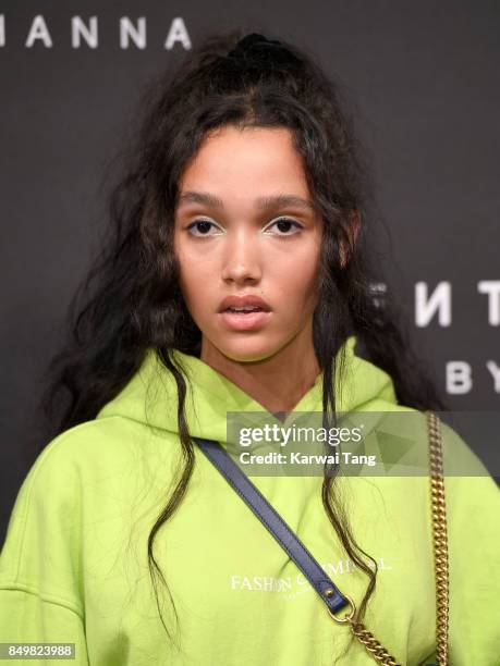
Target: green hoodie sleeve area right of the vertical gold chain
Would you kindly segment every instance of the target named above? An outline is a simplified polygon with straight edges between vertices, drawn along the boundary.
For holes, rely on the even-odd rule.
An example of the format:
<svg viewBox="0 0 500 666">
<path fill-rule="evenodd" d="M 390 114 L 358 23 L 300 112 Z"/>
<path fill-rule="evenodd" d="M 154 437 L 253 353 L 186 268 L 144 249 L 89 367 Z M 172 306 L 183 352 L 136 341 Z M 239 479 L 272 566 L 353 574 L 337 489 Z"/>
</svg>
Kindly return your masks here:
<svg viewBox="0 0 500 666">
<path fill-rule="evenodd" d="M 449 550 L 450 666 L 500 664 L 500 492 L 486 467 L 442 425 Z M 459 466 L 456 464 L 459 462 Z M 447 469 L 475 476 L 447 476 Z"/>
</svg>

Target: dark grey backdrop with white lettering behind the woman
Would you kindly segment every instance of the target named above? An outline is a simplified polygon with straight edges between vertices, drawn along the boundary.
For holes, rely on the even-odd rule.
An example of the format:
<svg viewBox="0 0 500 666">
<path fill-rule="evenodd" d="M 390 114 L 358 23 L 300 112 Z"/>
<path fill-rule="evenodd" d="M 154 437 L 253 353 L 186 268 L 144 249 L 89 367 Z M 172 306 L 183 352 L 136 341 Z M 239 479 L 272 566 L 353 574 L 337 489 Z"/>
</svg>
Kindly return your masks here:
<svg viewBox="0 0 500 666">
<path fill-rule="evenodd" d="M 96 17 L 96 48 L 72 44 L 74 16 Z M 144 17 L 144 48 L 120 46 L 123 16 Z M 175 28 L 195 45 L 235 26 L 295 41 L 344 86 L 392 237 L 388 288 L 449 405 L 498 410 L 496 0 L 1 2 L 0 539 L 39 445 L 41 373 L 103 221 L 100 185 L 139 95 L 185 52 L 186 39 L 164 46 Z M 419 325 L 420 282 L 429 294 L 447 283 L 451 321 L 443 301 L 444 319 Z M 451 361 L 465 383 L 451 381 Z"/>
</svg>

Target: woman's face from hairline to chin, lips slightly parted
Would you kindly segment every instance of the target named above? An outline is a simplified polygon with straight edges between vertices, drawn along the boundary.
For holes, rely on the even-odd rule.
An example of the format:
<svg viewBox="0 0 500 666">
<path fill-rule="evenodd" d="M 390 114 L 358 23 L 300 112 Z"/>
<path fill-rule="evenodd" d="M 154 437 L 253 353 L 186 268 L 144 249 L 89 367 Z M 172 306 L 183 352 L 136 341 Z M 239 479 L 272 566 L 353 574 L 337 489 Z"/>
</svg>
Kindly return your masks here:
<svg viewBox="0 0 500 666">
<path fill-rule="evenodd" d="M 174 232 L 202 350 L 252 361 L 297 337 L 312 345 L 321 233 L 288 130 L 227 126 L 206 137 L 179 184 Z"/>
</svg>

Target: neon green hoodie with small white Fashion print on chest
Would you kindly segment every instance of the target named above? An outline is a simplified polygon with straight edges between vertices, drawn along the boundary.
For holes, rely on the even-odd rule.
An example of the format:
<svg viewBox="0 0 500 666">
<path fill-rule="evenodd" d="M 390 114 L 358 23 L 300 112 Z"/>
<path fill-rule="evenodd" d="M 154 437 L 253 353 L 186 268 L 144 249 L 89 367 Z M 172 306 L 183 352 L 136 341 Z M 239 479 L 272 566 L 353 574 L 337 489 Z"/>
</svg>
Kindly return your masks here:
<svg viewBox="0 0 500 666">
<path fill-rule="evenodd" d="M 355 342 L 346 342 L 339 410 L 405 409 L 390 377 L 354 354 Z M 227 445 L 227 411 L 261 411 L 261 405 L 202 360 L 175 354 L 193 384 L 191 434 Z M 321 411 L 321 377 L 294 411 Z M 426 445 L 424 416 L 416 436 Z M 198 451 L 187 494 L 155 541 L 179 620 L 159 581 L 168 638 L 147 539 L 172 490 L 179 452 L 175 382 L 149 353 L 97 419 L 50 442 L 24 480 L 0 557 L 0 642 L 75 643 L 73 663 L 93 666 L 375 664 Z M 459 454 L 481 466 L 443 425 L 444 469 Z M 326 517 L 321 478 L 253 481 L 341 591 L 359 603 L 367 577 L 349 560 Z M 428 478 L 344 477 L 336 483 L 357 542 L 379 567 L 365 625 L 402 664 L 427 664 L 436 622 Z M 486 471 L 447 477 L 446 489 L 450 664 L 498 665 L 499 492 Z"/>
</svg>

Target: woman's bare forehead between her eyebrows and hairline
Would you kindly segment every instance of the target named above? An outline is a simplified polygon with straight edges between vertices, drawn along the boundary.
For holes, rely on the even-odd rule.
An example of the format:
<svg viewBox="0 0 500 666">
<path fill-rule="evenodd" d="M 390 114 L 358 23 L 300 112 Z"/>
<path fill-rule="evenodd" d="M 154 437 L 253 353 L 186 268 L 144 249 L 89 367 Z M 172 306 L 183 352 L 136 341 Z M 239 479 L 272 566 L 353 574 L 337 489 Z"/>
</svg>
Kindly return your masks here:
<svg viewBox="0 0 500 666">
<path fill-rule="evenodd" d="M 205 137 L 180 182 L 184 189 L 214 194 L 277 189 L 307 195 L 303 159 L 286 128 L 225 126 Z"/>
</svg>

